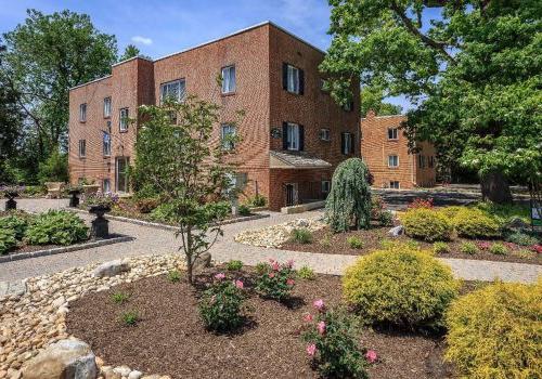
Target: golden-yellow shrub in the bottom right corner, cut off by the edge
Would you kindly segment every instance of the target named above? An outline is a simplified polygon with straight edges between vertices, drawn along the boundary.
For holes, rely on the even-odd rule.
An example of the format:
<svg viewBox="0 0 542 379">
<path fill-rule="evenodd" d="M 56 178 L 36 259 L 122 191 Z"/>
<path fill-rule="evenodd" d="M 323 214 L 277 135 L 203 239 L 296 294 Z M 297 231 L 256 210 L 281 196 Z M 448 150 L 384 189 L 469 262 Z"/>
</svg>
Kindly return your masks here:
<svg viewBox="0 0 542 379">
<path fill-rule="evenodd" d="M 467 378 L 539 378 L 542 373 L 542 280 L 495 283 L 450 306 L 447 360 Z"/>
</svg>

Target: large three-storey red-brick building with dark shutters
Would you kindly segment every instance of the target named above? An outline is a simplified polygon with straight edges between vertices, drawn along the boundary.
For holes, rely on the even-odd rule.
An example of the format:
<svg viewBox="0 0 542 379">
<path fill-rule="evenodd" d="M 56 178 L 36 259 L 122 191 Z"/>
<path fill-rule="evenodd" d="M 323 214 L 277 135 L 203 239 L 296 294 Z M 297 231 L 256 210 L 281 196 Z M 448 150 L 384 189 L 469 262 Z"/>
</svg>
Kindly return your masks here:
<svg viewBox="0 0 542 379">
<path fill-rule="evenodd" d="M 214 144 L 238 133 L 237 180 L 278 210 L 324 198 L 335 167 L 359 156 L 359 91 L 347 107 L 322 90 L 324 52 L 266 22 L 155 61 L 115 64 L 112 74 L 69 92 L 70 182 L 130 192 L 138 107 L 184 93 L 222 106 Z M 222 77 L 221 87 L 217 77 Z M 359 89 L 359 83 L 354 84 Z M 246 115 L 235 127 L 235 112 Z"/>
</svg>

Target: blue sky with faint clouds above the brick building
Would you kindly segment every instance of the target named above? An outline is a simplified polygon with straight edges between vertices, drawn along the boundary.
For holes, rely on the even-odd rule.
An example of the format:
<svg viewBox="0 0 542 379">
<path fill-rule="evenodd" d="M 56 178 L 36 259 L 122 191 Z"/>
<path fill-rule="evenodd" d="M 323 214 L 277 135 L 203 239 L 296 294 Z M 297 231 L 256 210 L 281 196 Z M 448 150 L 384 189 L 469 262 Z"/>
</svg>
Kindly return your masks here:
<svg viewBox="0 0 542 379">
<path fill-rule="evenodd" d="M 26 10 L 87 13 L 94 26 L 153 58 L 270 19 L 326 50 L 331 38 L 327 0 L 0 0 L 0 32 L 23 23 Z M 404 99 L 389 99 L 409 107 Z"/>
</svg>

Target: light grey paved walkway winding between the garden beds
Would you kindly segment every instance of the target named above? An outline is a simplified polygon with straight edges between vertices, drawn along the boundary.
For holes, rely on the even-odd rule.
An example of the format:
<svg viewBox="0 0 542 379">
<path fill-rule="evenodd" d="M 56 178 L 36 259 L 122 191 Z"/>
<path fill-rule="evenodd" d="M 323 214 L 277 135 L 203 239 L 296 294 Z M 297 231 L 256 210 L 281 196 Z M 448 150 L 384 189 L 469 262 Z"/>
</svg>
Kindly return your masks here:
<svg viewBox="0 0 542 379">
<path fill-rule="evenodd" d="M 31 211 L 42 211 L 48 208 L 63 208 L 67 200 L 33 200 L 21 199 L 20 208 Z M 282 214 L 270 212 L 270 218 L 224 225 L 224 236 L 212 247 L 211 254 L 218 261 L 240 259 L 246 264 L 256 264 L 274 258 L 280 261 L 294 259 L 297 266 L 310 265 L 319 273 L 341 274 L 357 257 L 340 254 L 323 254 L 281 249 L 266 249 L 249 245 L 237 244 L 233 237 L 246 228 L 259 228 L 286 222 L 297 218 L 309 218 L 321 214 L 321 211 L 300 214 Z M 90 217 L 83 215 L 87 221 Z M 136 237 L 134 240 L 111 246 L 73 251 L 56 256 L 26 259 L 0 264 L 0 282 L 17 280 L 25 277 L 59 272 L 73 266 L 86 265 L 94 262 L 105 262 L 122 257 L 144 256 L 152 253 L 170 253 L 178 251 L 179 241 L 173 233 L 149 226 L 141 226 L 126 222 L 111 221 L 111 231 Z M 468 280 L 492 280 L 501 278 L 505 282 L 534 282 L 542 275 L 542 266 L 525 263 L 490 262 L 467 259 L 441 259 L 450 264 L 457 277 Z"/>
</svg>

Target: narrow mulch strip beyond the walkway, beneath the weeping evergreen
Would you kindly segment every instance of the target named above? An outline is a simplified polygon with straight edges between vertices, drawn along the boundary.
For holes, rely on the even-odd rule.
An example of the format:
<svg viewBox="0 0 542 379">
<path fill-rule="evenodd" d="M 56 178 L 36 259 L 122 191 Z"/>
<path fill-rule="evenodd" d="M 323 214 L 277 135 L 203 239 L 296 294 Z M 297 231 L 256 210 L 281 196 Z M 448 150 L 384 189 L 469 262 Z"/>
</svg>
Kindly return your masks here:
<svg viewBox="0 0 542 379">
<path fill-rule="evenodd" d="M 415 240 L 416 243 L 420 244 L 422 248 L 433 250 L 433 244 L 420 241 L 417 239 L 413 239 L 404 235 L 399 237 L 390 237 L 387 234 L 389 228 L 390 227 L 375 226 L 366 231 L 351 231 L 348 233 L 333 234 L 328 227 L 325 227 L 323 230 L 312 233 L 311 244 L 298 244 L 294 241 L 288 241 L 283 244 L 281 248 L 284 250 L 321 252 L 327 254 L 365 256 L 380 248 L 383 239 L 389 239 L 389 240 L 399 240 L 403 243 L 406 243 L 409 240 Z M 347 238 L 353 235 L 359 236 L 361 238 L 361 240 L 363 241 L 363 248 L 352 249 L 348 245 Z M 538 254 L 533 251 L 532 252 L 529 251 L 526 254 L 519 253 L 521 248 L 524 250 L 528 250 L 528 247 L 516 246 L 506 256 L 493 254 L 487 250 L 480 250 L 475 254 L 466 254 L 461 252 L 460 250 L 461 244 L 464 241 L 472 241 L 474 244 L 478 244 L 480 241 L 495 243 L 498 240 L 455 238 L 454 240 L 447 243 L 451 251 L 449 253 L 439 253 L 437 254 L 437 257 L 542 264 L 542 254 Z"/>
</svg>

